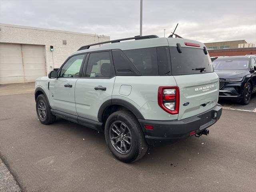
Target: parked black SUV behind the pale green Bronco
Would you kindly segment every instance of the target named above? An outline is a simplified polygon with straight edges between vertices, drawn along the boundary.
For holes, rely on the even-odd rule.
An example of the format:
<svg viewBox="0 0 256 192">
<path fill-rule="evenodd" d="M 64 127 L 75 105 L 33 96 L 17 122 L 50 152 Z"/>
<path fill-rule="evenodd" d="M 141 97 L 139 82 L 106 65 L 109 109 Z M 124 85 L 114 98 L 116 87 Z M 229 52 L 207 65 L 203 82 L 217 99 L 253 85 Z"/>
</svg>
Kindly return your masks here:
<svg viewBox="0 0 256 192">
<path fill-rule="evenodd" d="M 248 104 L 256 92 L 256 55 L 222 57 L 212 64 L 220 78 L 219 97 Z"/>
</svg>

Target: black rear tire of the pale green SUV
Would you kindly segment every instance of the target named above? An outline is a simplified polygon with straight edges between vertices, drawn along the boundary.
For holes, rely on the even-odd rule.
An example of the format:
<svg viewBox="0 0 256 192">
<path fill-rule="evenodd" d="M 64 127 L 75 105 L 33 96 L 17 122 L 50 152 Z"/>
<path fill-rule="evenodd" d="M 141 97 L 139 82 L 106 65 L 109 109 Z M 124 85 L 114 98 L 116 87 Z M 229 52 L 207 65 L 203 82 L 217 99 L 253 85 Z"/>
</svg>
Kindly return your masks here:
<svg viewBox="0 0 256 192">
<path fill-rule="evenodd" d="M 121 136 L 120 134 L 118 135 L 116 132 L 113 132 L 112 127 L 114 130 L 117 130 L 116 126 L 114 125 L 120 125 Z M 127 126 L 127 128 L 125 126 Z M 126 130 L 126 132 L 122 132 L 122 130 Z M 124 133 L 124 136 L 121 140 L 122 133 Z M 114 136 L 119 136 L 119 138 L 111 140 L 110 137 L 112 137 L 113 134 L 115 134 Z M 114 138 L 114 136 L 112 138 Z M 128 138 L 129 136 L 131 139 Z M 130 111 L 120 110 L 112 113 L 108 117 L 105 124 L 105 139 L 112 154 L 122 162 L 130 163 L 139 160 L 146 154 L 148 150 L 148 144 L 146 143 L 144 134 L 140 128 L 140 124 L 137 118 Z M 120 141 L 116 142 L 118 139 Z M 126 140 L 130 141 L 130 147 Z M 114 142 L 118 144 L 114 145 Z M 122 142 L 124 143 L 123 146 L 126 144 L 126 152 L 124 152 L 125 148 L 121 146 Z M 120 149 L 118 147 L 119 144 L 121 146 Z M 123 153 L 122 148 L 124 149 Z"/>
</svg>

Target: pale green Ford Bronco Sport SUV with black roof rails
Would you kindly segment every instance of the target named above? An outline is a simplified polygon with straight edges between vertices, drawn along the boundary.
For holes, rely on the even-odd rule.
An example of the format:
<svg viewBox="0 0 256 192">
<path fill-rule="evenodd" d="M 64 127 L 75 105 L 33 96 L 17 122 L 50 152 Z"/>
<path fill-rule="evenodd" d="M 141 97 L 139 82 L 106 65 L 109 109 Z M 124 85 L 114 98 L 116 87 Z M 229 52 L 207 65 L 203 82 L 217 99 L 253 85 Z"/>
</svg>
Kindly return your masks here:
<svg viewBox="0 0 256 192">
<path fill-rule="evenodd" d="M 154 35 L 98 44 L 106 45 L 82 46 L 36 80 L 42 124 L 58 116 L 102 131 L 116 158 L 134 162 L 148 145 L 207 135 L 220 118 L 219 78 L 204 44 Z"/>
</svg>

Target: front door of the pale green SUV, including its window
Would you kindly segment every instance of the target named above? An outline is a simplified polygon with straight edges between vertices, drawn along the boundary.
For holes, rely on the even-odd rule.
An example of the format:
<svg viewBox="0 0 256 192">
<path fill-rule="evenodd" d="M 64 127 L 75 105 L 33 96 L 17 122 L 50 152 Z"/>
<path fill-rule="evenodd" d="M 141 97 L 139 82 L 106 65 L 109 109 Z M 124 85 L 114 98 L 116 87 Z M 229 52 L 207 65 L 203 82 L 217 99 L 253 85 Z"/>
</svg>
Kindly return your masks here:
<svg viewBox="0 0 256 192">
<path fill-rule="evenodd" d="M 75 104 L 75 86 L 85 54 L 70 57 L 58 72 L 58 78 L 51 79 L 50 104 L 52 109 L 77 115 Z"/>
</svg>

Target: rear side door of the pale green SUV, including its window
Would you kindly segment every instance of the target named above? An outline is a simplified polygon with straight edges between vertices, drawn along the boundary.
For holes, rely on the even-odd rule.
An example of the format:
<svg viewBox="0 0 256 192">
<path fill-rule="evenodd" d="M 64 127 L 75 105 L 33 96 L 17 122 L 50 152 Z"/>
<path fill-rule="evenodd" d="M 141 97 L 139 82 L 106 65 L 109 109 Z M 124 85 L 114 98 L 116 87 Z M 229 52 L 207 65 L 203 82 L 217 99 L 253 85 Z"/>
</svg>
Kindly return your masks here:
<svg viewBox="0 0 256 192">
<path fill-rule="evenodd" d="M 90 53 L 86 62 L 76 82 L 76 111 L 78 116 L 98 122 L 98 110 L 111 101 L 116 78 L 111 51 Z"/>
</svg>

